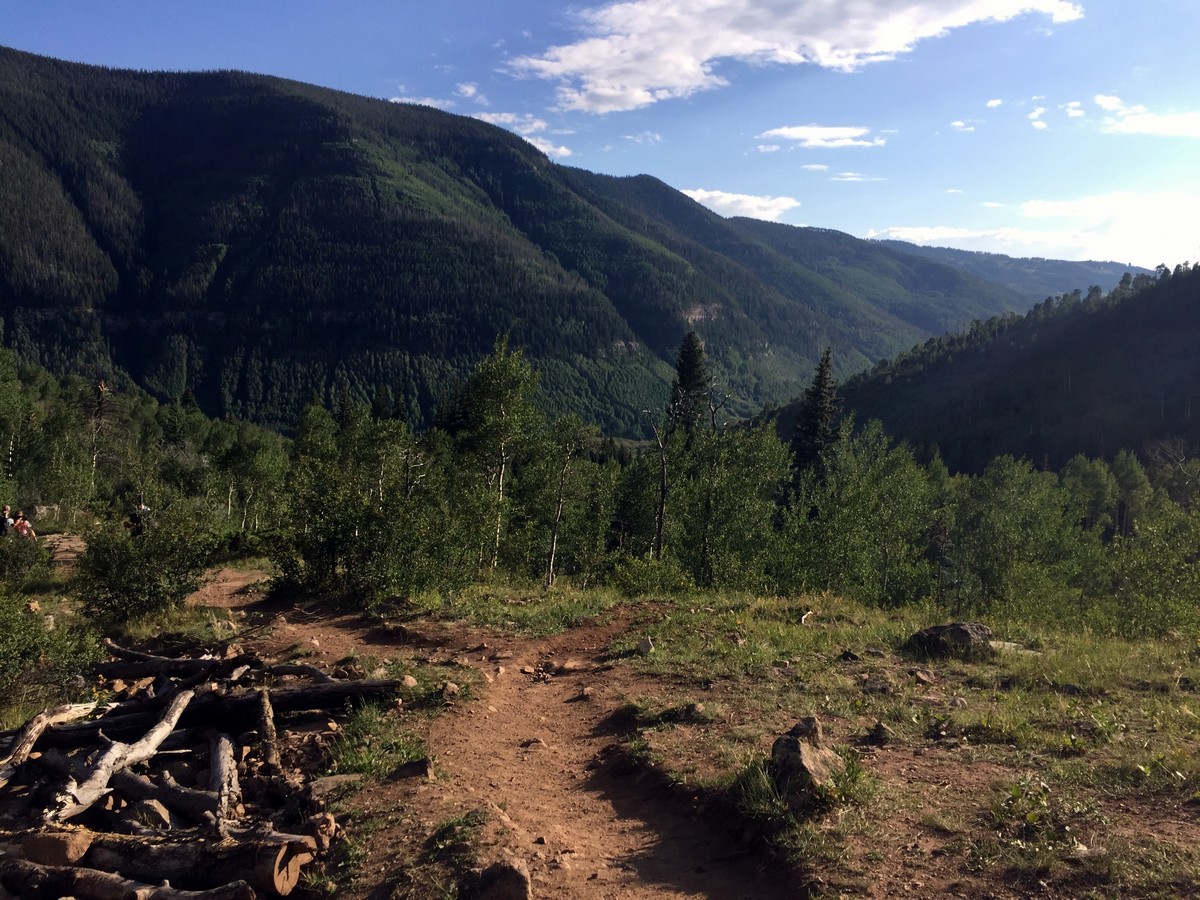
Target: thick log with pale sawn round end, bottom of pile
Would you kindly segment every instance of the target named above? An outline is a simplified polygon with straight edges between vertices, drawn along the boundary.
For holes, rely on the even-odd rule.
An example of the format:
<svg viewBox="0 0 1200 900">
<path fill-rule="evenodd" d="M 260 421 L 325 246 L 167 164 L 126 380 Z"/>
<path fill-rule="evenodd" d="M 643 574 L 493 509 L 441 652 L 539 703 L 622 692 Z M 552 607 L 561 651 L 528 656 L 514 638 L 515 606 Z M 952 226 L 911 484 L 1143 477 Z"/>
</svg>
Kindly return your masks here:
<svg viewBox="0 0 1200 900">
<path fill-rule="evenodd" d="M 256 890 L 287 896 L 317 852 L 308 835 L 245 832 L 246 839 L 150 841 L 130 835 L 96 835 L 84 864 L 133 878 L 166 878 L 190 889 L 244 878 Z"/>
</svg>

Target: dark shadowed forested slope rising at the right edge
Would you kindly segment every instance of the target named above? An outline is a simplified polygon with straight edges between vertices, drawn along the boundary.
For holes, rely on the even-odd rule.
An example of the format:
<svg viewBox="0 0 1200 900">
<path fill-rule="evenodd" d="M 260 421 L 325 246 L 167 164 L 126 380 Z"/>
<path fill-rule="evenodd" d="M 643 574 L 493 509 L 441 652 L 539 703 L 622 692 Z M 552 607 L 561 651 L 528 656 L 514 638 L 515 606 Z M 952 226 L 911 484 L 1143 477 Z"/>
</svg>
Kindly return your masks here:
<svg viewBox="0 0 1200 900">
<path fill-rule="evenodd" d="M 852 378 L 842 400 L 952 470 L 1001 455 L 1183 458 L 1200 445 L 1198 343 L 1200 270 L 1181 265 L 931 338 Z"/>
</svg>

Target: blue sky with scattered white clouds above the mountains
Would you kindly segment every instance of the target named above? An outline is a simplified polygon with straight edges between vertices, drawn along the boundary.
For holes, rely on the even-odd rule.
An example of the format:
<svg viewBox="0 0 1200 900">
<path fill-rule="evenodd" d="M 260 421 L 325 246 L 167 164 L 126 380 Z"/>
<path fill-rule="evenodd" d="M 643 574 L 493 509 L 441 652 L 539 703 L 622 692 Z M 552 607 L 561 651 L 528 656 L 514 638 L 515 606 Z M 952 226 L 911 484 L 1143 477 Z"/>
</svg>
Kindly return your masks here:
<svg viewBox="0 0 1200 900">
<path fill-rule="evenodd" d="M 0 44 L 424 102 L 722 215 L 1200 258 L 1196 0 L 0 0 Z"/>
</svg>

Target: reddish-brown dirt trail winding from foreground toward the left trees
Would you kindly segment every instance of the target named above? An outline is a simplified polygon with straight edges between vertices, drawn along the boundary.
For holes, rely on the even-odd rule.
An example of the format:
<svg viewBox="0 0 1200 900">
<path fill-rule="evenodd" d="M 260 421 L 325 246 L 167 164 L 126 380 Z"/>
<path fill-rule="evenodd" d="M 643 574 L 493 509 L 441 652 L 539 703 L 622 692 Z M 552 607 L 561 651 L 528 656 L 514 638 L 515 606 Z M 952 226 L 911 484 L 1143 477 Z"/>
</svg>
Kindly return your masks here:
<svg viewBox="0 0 1200 900">
<path fill-rule="evenodd" d="M 760 853 L 697 812 L 685 788 L 629 764 L 619 751 L 622 708 L 640 688 L 653 688 L 607 658 L 610 643 L 631 626 L 630 612 L 548 638 L 443 623 L 396 635 L 359 616 L 266 608 L 256 588 L 262 577 L 216 571 L 192 602 L 270 617 L 251 644 L 264 653 L 301 646 L 322 665 L 416 653 L 431 665 L 479 673 L 470 700 L 450 700 L 427 720 L 432 778 L 384 781 L 347 800 L 373 826 L 360 877 L 338 896 L 390 896 L 397 860 L 439 823 L 470 812 L 482 814 L 480 862 L 515 860 L 528 870 L 535 898 L 797 895 Z M 455 670 L 446 671 L 454 678 Z"/>
</svg>

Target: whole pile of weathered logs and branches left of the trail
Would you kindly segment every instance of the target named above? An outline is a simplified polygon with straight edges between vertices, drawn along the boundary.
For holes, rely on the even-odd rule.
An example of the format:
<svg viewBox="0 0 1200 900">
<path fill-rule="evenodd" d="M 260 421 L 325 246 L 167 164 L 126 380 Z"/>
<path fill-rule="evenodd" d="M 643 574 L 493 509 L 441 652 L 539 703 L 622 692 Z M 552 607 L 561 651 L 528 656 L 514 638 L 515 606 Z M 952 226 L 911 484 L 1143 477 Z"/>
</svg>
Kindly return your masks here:
<svg viewBox="0 0 1200 900">
<path fill-rule="evenodd" d="M 114 702 L 0 734 L 0 900 L 289 894 L 337 830 L 298 736 L 400 683 L 108 647 Z"/>
</svg>

